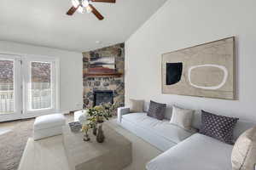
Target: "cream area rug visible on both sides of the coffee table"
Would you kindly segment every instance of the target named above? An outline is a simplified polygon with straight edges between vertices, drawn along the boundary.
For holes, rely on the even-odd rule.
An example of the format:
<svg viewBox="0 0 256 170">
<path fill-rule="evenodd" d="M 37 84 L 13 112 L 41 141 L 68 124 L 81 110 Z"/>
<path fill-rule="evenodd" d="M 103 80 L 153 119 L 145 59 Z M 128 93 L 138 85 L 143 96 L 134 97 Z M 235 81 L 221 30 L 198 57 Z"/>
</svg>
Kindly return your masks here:
<svg viewBox="0 0 256 170">
<path fill-rule="evenodd" d="M 124 170 L 144 170 L 148 161 L 160 155 L 160 150 L 119 127 L 115 119 L 106 123 L 132 143 L 132 163 Z M 28 139 L 19 170 L 69 170 L 62 135 L 39 141 Z"/>
</svg>

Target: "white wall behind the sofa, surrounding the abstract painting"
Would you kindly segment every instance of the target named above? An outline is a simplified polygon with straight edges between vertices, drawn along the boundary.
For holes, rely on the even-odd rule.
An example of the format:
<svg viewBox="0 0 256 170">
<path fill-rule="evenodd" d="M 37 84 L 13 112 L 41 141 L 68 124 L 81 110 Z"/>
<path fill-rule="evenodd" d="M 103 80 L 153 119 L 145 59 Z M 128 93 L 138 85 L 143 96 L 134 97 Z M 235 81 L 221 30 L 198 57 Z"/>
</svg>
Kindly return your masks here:
<svg viewBox="0 0 256 170">
<path fill-rule="evenodd" d="M 169 0 L 125 42 L 125 104 L 150 99 L 256 122 L 256 1 Z M 161 54 L 236 36 L 237 100 L 161 94 Z"/>
</svg>

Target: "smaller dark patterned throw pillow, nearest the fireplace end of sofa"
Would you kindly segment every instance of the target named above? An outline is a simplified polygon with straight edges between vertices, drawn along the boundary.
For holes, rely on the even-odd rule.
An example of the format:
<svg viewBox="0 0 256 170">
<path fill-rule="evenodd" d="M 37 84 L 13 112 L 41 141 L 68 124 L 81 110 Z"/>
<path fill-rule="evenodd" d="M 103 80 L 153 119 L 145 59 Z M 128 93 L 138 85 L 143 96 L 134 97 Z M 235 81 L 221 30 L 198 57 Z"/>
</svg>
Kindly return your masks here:
<svg viewBox="0 0 256 170">
<path fill-rule="evenodd" d="M 152 116 L 158 120 L 163 120 L 165 117 L 164 115 L 165 110 L 166 110 L 166 104 L 160 104 L 150 100 L 147 115 Z"/>
</svg>

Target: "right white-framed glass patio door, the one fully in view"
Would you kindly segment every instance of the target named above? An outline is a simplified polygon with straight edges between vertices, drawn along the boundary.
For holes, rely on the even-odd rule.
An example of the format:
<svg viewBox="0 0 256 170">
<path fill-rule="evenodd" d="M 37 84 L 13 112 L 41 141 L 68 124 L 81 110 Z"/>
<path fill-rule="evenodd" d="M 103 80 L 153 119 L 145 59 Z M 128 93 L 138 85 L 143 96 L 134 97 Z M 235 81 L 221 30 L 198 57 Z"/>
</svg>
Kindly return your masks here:
<svg viewBox="0 0 256 170">
<path fill-rule="evenodd" d="M 24 74 L 24 117 L 44 115 L 57 109 L 55 59 L 26 57 Z"/>
</svg>

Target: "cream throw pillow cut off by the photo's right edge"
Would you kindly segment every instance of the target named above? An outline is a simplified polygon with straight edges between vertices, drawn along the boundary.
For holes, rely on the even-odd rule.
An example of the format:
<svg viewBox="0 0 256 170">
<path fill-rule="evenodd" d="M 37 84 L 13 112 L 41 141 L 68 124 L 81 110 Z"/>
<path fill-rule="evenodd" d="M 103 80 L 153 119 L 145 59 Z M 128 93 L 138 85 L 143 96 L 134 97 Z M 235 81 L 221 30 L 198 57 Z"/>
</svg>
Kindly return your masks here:
<svg viewBox="0 0 256 170">
<path fill-rule="evenodd" d="M 233 170 L 254 170 L 256 163 L 256 127 L 248 129 L 236 140 L 231 155 Z"/>
</svg>

